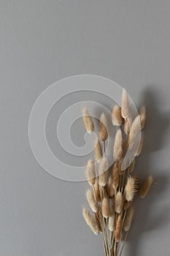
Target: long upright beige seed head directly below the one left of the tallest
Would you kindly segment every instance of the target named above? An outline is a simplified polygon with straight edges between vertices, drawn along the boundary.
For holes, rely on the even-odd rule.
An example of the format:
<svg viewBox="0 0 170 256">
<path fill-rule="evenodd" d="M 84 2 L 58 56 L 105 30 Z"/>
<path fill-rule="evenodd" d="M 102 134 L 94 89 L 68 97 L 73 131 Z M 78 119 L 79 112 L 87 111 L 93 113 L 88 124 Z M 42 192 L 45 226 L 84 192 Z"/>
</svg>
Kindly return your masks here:
<svg viewBox="0 0 170 256">
<path fill-rule="evenodd" d="M 123 137 L 121 129 L 117 129 L 115 135 L 115 142 L 113 146 L 113 158 L 114 159 L 121 159 L 123 157 Z"/>
</svg>

